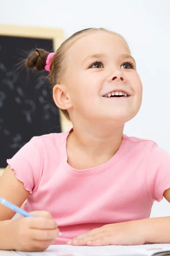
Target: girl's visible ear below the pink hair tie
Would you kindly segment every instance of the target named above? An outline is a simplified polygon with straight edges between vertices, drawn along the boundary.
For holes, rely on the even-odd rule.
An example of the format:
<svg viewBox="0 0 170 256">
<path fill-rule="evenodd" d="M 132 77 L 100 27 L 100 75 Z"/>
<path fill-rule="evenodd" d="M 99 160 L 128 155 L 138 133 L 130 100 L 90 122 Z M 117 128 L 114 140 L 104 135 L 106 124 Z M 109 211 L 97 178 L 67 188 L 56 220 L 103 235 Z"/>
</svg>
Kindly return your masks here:
<svg viewBox="0 0 170 256">
<path fill-rule="evenodd" d="M 66 87 L 63 84 L 56 84 L 53 87 L 53 99 L 58 108 L 69 109 L 72 108 L 73 104 L 69 93 L 66 91 Z"/>
</svg>

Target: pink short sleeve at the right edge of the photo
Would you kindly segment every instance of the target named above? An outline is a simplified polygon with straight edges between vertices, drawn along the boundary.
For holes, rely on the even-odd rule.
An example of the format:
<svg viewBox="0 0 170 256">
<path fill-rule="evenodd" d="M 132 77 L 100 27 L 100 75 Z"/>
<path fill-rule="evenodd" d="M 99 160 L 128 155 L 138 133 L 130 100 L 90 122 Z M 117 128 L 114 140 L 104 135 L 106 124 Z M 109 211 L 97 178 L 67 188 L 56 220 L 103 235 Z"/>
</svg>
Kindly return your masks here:
<svg viewBox="0 0 170 256">
<path fill-rule="evenodd" d="M 169 188 L 170 154 L 154 144 L 147 163 L 147 190 L 150 201 L 161 201 L 164 191 Z"/>
</svg>

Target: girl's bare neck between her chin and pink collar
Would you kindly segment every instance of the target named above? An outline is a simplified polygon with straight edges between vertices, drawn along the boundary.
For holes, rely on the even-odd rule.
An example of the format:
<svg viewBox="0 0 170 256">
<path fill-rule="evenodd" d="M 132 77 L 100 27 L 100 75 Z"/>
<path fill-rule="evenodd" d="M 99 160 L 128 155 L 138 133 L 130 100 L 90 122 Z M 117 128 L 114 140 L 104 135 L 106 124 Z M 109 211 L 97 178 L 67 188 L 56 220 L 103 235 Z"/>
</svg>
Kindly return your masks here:
<svg viewBox="0 0 170 256">
<path fill-rule="evenodd" d="M 89 124 L 80 127 L 80 123 L 73 124 L 73 131 L 68 137 L 69 145 L 93 160 L 101 156 L 111 158 L 122 143 L 123 129 L 124 125 L 116 127 Z"/>
</svg>

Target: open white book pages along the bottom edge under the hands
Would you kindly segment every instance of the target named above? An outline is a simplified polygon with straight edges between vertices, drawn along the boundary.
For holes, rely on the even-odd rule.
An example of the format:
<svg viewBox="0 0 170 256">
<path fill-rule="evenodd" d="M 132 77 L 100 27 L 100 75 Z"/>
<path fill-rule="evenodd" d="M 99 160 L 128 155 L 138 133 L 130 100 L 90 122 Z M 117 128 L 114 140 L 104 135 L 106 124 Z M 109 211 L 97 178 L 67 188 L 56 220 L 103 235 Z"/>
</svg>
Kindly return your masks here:
<svg viewBox="0 0 170 256">
<path fill-rule="evenodd" d="M 144 244 L 132 246 L 72 246 L 72 245 L 51 245 L 44 252 L 19 252 L 21 256 L 58 256 L 72 254 L 74 256 L 125 256 L 125 255 L 147 255 L 151 256 L 156 252 L 169 250 L 170 244 Z"/>
</svg>

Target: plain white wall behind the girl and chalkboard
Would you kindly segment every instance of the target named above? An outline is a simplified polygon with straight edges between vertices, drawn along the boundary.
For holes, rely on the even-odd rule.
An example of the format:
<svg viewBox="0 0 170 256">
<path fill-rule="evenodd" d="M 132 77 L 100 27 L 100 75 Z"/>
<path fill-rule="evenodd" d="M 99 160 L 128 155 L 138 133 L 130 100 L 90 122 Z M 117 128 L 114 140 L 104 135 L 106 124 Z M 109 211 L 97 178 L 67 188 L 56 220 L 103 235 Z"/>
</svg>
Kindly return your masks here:
<svg viewBox="0 0 170 256">
<path fill-rule="evenodd" d="M 122 34 L 136 59 L 144 86 L 143 105 L 125 127 L 127 135 L 155 140 L 170 153 L 169 0 L 6 0 L 0 23 L 62 28 L 65 37 L 88 27 Z M 170 215 L 165 200 L 151 216 Z"/>
</svg>

